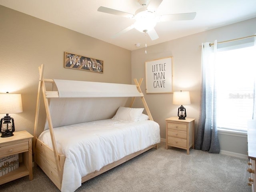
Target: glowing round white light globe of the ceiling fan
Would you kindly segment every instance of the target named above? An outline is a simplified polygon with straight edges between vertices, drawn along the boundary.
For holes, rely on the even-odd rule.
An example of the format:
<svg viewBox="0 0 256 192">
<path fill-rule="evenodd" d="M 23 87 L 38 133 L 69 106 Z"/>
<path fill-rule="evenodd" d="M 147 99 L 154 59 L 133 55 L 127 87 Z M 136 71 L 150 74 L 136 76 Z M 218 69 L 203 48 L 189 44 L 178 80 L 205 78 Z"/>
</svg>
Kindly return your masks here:
<svg viewBox="0 0 256 192">
<path fill-rule="evenodd" d="M 153 12 L 142 11 L 135 15 L 134 28 L 140 32 L 152 30 L 156 26 L 156 15 Z"/>
</svg>

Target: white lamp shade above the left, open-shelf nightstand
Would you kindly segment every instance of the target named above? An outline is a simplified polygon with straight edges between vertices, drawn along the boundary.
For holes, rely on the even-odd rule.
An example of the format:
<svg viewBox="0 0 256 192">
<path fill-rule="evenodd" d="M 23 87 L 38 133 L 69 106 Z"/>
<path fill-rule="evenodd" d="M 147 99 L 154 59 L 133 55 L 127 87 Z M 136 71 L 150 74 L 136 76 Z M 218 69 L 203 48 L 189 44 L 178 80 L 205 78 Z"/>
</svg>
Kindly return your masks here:
<svg viewBox="0 0 256 192">
<path fill-rule="evenodd" d="M 21 94 L 0 94 L 0 114 L 22 112 Z"/>
</svg>

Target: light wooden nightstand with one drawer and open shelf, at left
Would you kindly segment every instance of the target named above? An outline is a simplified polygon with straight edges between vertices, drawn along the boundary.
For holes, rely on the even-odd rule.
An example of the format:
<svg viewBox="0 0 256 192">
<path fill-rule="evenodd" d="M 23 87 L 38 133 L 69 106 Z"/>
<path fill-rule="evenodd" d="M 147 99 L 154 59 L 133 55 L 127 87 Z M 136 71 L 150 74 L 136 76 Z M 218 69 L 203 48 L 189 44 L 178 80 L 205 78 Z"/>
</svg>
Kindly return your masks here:
<svg viewBox="0 0 256 192">
<path fill-rule="evenodd" d="M 29 175 L 32 175 L 32 135 L 27 131 L 14 132 L 14 136 L 0 138 L 0 158 L 19 154 L 19 167 L 3 176 L 0 184 Z M 21 157 L 21 158 L 20 158 Z"/>
</svg>

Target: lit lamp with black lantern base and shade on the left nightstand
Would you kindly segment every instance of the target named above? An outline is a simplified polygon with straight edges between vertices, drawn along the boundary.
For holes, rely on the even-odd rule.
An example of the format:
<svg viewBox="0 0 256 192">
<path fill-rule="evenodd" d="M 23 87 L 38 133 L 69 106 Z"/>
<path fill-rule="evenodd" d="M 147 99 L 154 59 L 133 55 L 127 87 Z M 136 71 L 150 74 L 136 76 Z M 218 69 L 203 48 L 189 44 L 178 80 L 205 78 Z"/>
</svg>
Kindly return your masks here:
<svg viewBox="0 0 256 192">
<path fill-rule="evenodd" d="M 14 119 L 9 116 L 9 113 L 22 112 L 22 101 L 20 94 L 0 94 L 0 114 L 6 114 L 1 121 L 1 137 L 13 136 L 15 131 Z"/>
</svg>

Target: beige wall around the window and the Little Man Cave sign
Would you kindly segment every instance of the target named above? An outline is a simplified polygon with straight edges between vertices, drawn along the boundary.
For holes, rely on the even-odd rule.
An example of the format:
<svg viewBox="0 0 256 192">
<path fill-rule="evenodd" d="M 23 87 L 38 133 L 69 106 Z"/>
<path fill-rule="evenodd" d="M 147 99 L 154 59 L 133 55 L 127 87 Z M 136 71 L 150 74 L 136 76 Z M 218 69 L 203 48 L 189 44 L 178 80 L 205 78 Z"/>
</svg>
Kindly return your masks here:
<svg viewBox="0 0 256 192">
<path fill-rule="evenodd" d="M 185 106 L 187 117 L 196 118 L 200 110 L 201 48 L 202 42 L 218 42 L 256 34 L 256 18 L 236 24 L 208 30 L 198 34 L 171 40 L 147 48 L 132 51 L 132 78 L 143 77 L 142 91 L 146 93 L 145 62 L 159 58 L 173 57 L 174 91 L 190 91 L 191 104 Z M 145 94 L 152 116 L 160 124 L 161 138 L 165 134 L 165 118 L 177 116 L 178 106 L 172 104 L 172 93 Z M 136 102 L 136 106 L 141 106 Z M 219 134 L 220 148 L 224 151 L 247 154 L 246 136 Z"/>
</svg>

